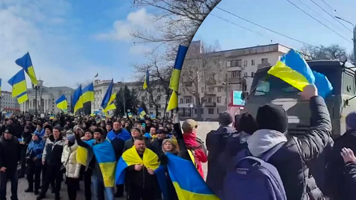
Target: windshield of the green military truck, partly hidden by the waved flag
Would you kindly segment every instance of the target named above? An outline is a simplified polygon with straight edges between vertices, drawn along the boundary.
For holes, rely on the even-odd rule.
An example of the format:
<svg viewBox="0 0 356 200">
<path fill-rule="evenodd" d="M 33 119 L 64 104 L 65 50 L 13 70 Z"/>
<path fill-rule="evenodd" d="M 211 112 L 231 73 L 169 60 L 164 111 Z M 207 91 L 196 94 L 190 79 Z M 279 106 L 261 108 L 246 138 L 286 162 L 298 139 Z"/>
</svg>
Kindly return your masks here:
<svg viewBox="0 0 356 200">
<path fill-rule="evenodd" d="M 337 73 L 337 69 L 337 67 L 332 68 L 321 66 L 312 68 L 312 70 L 324 74 L 329 79 L 331 85 L 333 85 L 334 88 L 337 83 L 337 76 L 335 75 Z M 300 92 L 297 88 L 294 88 L 283 80 L 268 75 L 267 70 L 262 70 L 255 74 L 251 90 L 251 95 L 253 96 L 289 96 Z M 331 91 L 331 94 L 329 95 L 334 94 L 334 91 L 335 89 L 333 89 L 333 91 Z"/>
</svg>

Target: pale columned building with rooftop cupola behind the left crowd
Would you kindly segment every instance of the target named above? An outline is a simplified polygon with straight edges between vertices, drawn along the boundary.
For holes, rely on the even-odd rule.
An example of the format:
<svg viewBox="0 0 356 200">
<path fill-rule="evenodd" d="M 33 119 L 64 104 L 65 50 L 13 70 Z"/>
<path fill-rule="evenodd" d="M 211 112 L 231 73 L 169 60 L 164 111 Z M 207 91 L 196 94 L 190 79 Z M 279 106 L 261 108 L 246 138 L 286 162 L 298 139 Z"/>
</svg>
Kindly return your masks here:
<svg viewBox="0 0 356 200">
<path fill-rule="evenodd" d="M 43 81 L 41 82 L 37 92 L 33 88 L 27 89 L 28 101 L 21 104 L 21 111 L 25 112 L 33 112 L 35 113 L 48 113 L 48 112 L 61 112 L 60 109 L 57 108 L 56 100 L 62 96 L 63 94 L 67 98 L 68 102 L 68 110 L 71 108 L 70 97 L 74 93 L 74 89 L 69 88 L 67 86 L 63 87 L 46 87 L 43 86 Z M 37 94 L 36 94 L 37 93 Z M 36 98 L 37 97 L 37 98 Z M 37 104 L 36 104 L 37 99 Z"/>
</svg>

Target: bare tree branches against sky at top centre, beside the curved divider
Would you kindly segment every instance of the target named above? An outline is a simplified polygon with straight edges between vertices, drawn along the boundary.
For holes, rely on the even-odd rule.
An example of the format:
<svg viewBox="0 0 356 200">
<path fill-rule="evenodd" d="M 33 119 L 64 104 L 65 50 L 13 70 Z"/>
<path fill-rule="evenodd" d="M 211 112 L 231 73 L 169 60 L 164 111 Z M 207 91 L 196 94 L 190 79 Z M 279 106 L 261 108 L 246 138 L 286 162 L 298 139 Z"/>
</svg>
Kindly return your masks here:
<svg viewBox="0 0 356 200">
<path fill-rule="evenodd" d="M 221 0 L 133 0 L 135 6 L 155 9 L 155 31 L 134 31 L 141 43 L 165 44 L 175 52 L 179 44 L 188 46 L 201 22 Z M 162 20 L 163 19 L 163 20 Z"/>
</svg>

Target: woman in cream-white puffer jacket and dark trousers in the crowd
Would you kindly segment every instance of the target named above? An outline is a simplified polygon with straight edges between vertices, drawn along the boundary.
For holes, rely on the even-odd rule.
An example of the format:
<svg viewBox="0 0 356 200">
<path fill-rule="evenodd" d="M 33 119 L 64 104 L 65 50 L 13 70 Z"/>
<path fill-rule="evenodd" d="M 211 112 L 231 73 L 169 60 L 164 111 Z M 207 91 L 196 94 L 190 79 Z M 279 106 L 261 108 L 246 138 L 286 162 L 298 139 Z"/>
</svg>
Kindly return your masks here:
<svg viewBox="0 0 356 200">
<path fill-rule="evenodd" d="M 66 183 L 69 200 L 77 198 L 77 188 L 79 183 L 80 164 L 76 160 L 78 144 L 74 135 L 68 135 L 66 145 L 63 148 L 62 163 L 66 167 Z"/>
</svg>

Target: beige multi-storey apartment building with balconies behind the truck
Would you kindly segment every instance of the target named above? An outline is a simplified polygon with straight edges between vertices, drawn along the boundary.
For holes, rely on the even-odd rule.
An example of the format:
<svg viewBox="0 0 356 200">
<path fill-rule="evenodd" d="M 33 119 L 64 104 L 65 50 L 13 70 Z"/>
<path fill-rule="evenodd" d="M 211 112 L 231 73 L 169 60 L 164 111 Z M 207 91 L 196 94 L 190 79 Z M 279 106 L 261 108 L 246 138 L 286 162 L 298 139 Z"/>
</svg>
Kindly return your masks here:
<svg viewBox="0 0 356 200">
<path fill-rule="evenodd" d="M 216 119 L 227 110 L 231 91 L 250 90 L 253 75 L 262 67 L 274 65 L 290 48 L 279 44 L 206 52 L 200 41 L 193 41 L 188 49 L 182 69 L 178 106 L 182 117 L 197 117 L 195 91 L 203 102 L 203 118 Z M 200 65 L 200 66 L 198 66 Z M 199 72 L 197 72 L 199 71 Z M 192 74 L 198 74 L 193 77 Z M 194 87 L 199 78 L 198 87 Z"/>
</svg>

